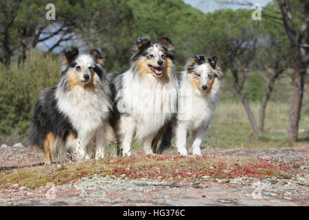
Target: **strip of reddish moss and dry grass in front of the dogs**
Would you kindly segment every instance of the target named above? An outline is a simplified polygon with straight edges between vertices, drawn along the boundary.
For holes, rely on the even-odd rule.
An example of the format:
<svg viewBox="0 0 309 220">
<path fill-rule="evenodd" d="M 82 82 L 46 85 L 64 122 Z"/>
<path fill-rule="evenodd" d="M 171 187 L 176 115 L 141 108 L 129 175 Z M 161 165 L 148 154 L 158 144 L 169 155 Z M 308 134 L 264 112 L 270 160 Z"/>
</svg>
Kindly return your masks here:
<svg viewBox="0 0 309 220">
<path fill-rule="evenodd" d="M 3 170 L 0 172 L 0 188 L 19 184 L 27 188 L 68 184 L 80 177 L 115 175 L 130 179 L 148 178 L 164 180 L 192 180 L 211 178 L 259 177 L 278 175 L 282 178 L 288 166 L 277 166 L 264 159 L 238 156 L 181 157 L 177 155 L 143 155 L 130 157 L 106 157 L 72 164 L 52 164 Z"/>
</svg>

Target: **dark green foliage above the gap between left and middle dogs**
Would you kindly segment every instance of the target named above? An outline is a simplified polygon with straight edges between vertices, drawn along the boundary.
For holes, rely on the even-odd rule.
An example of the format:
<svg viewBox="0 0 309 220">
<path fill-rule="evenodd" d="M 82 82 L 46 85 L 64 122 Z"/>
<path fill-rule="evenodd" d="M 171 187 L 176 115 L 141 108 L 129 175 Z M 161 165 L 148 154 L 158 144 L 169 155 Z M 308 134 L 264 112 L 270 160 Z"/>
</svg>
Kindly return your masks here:
<svg viewBox="0 0 309 220">
<path fill-rule="evenodd" d="M 132 9 L 123 0 L 78 1 L 82 17 L 68 18 L 75 23 L 74 32 L 81 36 L 84 47 L 104 50 L 106 70 L 128 67 L 130 49 L 135 40 L 136 25 Z M 76 6 L 77 7 L 77 6 Z"/>
</svg>

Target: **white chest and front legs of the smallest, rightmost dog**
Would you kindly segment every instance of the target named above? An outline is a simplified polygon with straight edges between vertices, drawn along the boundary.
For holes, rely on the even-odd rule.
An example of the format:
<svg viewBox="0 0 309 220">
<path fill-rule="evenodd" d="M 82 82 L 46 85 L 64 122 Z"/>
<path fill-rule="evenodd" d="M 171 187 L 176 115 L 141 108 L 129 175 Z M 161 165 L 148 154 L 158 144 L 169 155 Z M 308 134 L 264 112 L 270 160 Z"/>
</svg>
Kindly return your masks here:
<svg viewBox="0 0 309 220">
<path fill-rule="evenodd" d="M 192 87 L 190 78 L 183 72 L 179 90 L 177 121 L 175 127 L 175 146 L 181 155 L 187 155 L 187 133 L 192 132 L 192 153 L 201 155 L 201 144 L 209 124 L 214 117 L 218 100 L 219 83 L 211 91 L 203 93 Z"/>
</svg>

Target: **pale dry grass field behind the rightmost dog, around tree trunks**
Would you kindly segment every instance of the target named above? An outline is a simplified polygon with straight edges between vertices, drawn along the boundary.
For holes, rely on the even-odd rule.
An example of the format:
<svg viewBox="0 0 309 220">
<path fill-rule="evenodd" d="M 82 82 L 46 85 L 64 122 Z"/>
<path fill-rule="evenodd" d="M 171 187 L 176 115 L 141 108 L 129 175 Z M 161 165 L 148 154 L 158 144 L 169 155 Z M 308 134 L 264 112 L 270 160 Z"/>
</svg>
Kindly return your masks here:
<svg viewBox="0 0 309 220">
<path fill-rule="evenodd" d="M 271 148 L 282 146 L 309 146 L 309 115 L 303 113 L 299 122 L 299 142 L 293 143 L 286 137 L 289 104 L 269 102 L 266 109 L 265 135 L 256 139 L 239 102 L 219 101 L 214 120 L 203 144 L 208 147 L 219 148 Z M 307 106 L 304 104 L 304 109 Z M 258 122 L 260 104 L 251 103 L 251 109 Z"/>
</svg>

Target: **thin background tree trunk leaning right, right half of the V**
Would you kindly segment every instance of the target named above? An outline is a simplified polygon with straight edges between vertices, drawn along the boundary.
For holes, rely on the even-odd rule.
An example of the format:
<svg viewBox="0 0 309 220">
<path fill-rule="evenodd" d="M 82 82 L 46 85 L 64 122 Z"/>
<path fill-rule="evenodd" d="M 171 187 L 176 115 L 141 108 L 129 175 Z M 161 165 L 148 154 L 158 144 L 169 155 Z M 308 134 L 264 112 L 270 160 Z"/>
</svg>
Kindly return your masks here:
<svg viewBox="0 0 309 220">
<path fill-rule="evenodd" d="M 265 111 L 266 111 L 266 105 L 268 103 L 269 98 L 271 97 L 271 92 L 273 91 L 273 87 L 275 85 L 275 80 L 278 78 L 278 76 L 282 74 L 282 71 L 275 71 L 275 74 L 271 76 L 271 80 L 269 80 L 265 94 L 262 98 L 261 107 L 260 107 L 260 132 L 264 132 L 264 120 L 265 120 Z"/>
</svg>

